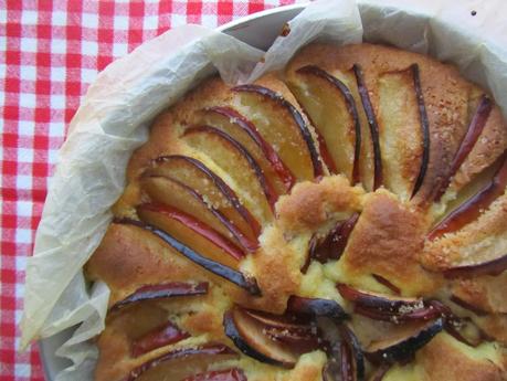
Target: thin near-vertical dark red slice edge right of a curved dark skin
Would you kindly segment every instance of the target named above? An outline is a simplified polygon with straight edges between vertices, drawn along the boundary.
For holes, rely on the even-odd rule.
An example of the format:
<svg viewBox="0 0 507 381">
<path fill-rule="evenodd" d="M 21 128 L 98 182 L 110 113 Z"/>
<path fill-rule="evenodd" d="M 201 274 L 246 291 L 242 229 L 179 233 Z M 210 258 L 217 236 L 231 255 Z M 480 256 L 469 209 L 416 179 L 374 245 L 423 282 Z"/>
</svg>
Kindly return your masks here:
<svg viewBox="0 0 507 381">
<path fill-rule="evenodd" d="M 374 162 L 374 173 L 373 173 L 373 190 L 382 186 L 382 159 L 380 152 L 380 142 L 379 142 L 379 125 L 377 123 L 377 117 L 374 115 L 373 105 L 370 100 L 370 95 L 368 94 L 368 87 L 365 83 L 365 77 L 362 75 L 362 70 L 358 64 L 352 66 L 353 74 L 356 76 L 356 82 L 358 84 L 359 96 L 361 97 L 362 107 L 368 119 L 368 125 L 370 126 L 371 141 L 373 142 L 373 162 Z"/>
</svg>

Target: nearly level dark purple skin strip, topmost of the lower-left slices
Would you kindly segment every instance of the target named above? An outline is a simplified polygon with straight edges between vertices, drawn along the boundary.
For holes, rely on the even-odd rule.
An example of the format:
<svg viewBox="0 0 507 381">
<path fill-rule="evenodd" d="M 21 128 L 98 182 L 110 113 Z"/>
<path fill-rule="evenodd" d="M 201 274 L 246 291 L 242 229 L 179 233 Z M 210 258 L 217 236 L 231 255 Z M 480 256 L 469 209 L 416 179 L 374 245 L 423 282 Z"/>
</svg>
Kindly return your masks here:
<svg viewBox="0 0 507 381">
<path fill-rule="evenodd" d="M 176 296 L 204 295 L 207 293 L 208 282 L 201 282 L 198 284 L 184 282 L 170 282 L 159 285 L 146 285 L 136 289 L 125 299 L 114 304 L 109 308 L 109 311 L 115 311 L 133 303 L 139 303 L 144 300 L 160 299 Z"/>
</svg>

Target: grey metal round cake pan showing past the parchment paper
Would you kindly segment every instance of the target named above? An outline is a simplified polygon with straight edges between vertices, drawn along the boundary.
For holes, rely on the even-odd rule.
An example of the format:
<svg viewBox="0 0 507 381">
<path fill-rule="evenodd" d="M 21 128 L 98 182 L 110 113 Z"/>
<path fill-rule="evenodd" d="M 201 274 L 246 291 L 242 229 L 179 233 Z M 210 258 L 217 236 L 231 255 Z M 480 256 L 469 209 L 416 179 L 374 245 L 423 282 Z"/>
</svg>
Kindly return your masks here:
<svg viewBox="0 0 507 381">
<path fill-rule="evenodd" d="M 230 34 L 254 47 L 266 50 L 279 35 L 284 23 L 296 17 L 305 7 L 306 4 L 294 4 L 250 14 L 218 28 L 218 31 Z M 55 380 L 61 370 L 71 366 L 67 360 L 56 357 L 55 351 L 72 336 L 73 330 L 67 329 L 39 342 L 41 361 L 47 381 Z"/>
</svg>

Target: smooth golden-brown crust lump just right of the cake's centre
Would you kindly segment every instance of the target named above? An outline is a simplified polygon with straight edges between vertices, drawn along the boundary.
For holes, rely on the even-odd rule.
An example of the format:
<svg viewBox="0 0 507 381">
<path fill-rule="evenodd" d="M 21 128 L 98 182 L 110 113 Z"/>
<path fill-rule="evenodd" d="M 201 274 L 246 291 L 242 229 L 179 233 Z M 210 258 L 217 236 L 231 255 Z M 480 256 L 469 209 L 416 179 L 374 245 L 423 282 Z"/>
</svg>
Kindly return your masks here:
<svg viewBox="0 0 507 381">
<path fill-rule="evenodd" d="M 385 191 L 369 193 L 349 239 L 344 265 L 349 277 L 381 275 L 411 294 L 436 286 L 419 264 L 426 222 Z"/>
</svg>

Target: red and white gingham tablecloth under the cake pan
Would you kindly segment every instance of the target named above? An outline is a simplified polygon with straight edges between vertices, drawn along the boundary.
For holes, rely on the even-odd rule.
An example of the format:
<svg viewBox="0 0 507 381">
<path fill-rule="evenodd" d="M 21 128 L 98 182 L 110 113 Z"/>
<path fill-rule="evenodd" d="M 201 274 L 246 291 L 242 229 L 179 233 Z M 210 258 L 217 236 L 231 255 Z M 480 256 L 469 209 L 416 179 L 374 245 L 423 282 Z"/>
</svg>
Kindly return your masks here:
<svg viewBox="0 0 507 381">
<path fill-rule="evenodd" d="M 66 127 L 97 73 L 177 25 L 220 24 L 295 0 L 0 0 L 0 381 L 43 380 L 17 351 L 27 256 Z"/>
</svg>

